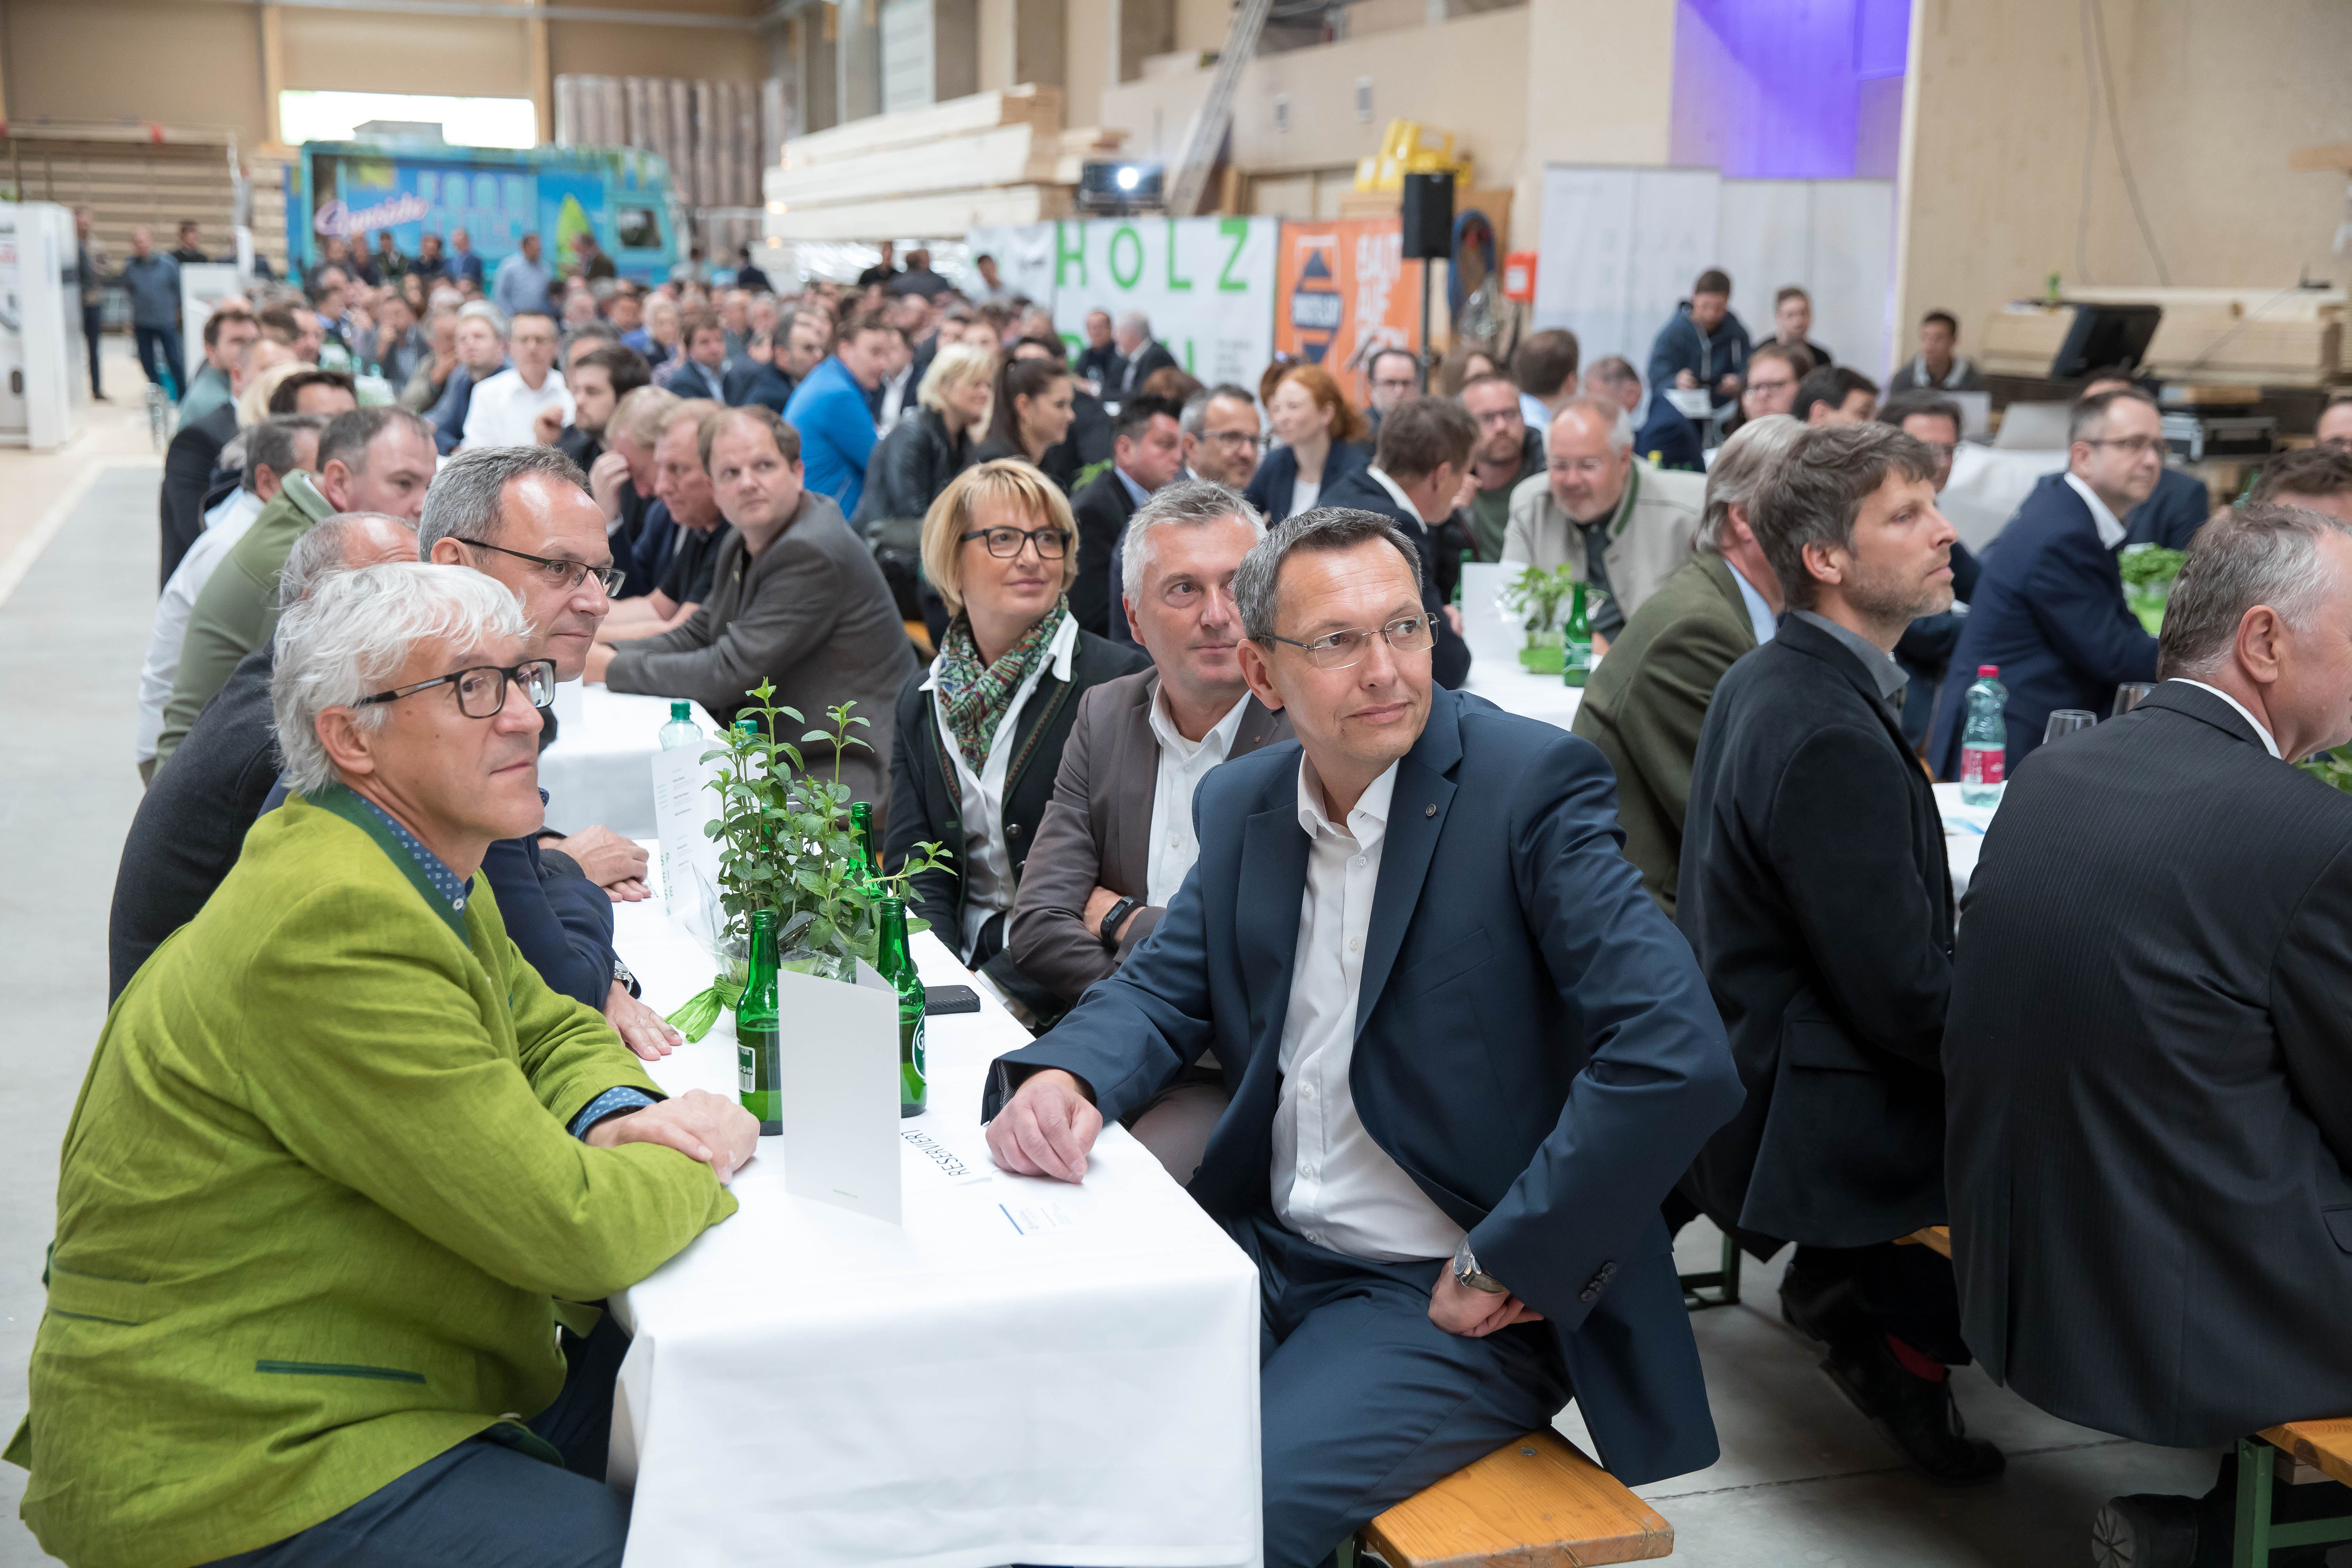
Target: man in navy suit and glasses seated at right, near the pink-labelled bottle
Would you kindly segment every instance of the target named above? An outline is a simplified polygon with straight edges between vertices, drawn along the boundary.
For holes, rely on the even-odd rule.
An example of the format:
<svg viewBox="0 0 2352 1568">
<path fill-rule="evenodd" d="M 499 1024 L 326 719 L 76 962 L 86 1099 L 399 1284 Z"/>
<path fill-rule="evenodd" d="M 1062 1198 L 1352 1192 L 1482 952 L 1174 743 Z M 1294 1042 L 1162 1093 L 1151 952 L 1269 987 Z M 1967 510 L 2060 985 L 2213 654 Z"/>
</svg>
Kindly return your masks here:
<svg viewBox="0 0 2352 1568">
<path fill-rule="evenodd" d="M 2124 604 L 2114 550 L 2124 512 L 2164 473 L 2164 421 L 2147 393 L 2117 388 L 2077 400 L 2067 437 L 2065 473 L 2025 496 L 1969 599 L 1929 731 L 1936 778 L 1959 778 L 1966 677 L 1980 665 L 1999 665 L 2009 686 L 2009 769 L 2058 708 L 2105 715 L 2119 684 L 2157 679 L 2157 639 Z"/>
</svg>

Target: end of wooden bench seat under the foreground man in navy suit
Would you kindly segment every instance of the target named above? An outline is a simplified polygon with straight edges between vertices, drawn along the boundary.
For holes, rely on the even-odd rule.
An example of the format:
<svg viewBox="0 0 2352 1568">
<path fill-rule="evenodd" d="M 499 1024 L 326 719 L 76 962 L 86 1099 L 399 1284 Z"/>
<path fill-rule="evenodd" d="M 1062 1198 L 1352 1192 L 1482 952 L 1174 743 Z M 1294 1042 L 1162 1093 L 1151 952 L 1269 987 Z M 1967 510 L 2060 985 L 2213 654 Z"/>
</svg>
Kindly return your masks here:
<svg viewBox="0 0 2352 1568">
<path fill-rule="evenodd" d="M 1668 1556 L 1675 1526 L 1557 1432 L 1529 1432 L 1388 1509 L 1355 1544 L 1390 1568 L 1583 1568 Z"/>
</svg>

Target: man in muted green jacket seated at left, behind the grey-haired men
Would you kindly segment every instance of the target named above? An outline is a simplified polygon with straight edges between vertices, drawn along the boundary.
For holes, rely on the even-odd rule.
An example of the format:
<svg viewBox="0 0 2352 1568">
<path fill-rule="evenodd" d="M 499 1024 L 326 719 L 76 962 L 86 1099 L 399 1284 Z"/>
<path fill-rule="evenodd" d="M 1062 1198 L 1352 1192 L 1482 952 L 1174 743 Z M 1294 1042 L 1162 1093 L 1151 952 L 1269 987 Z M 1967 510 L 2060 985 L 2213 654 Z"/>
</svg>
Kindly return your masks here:
<svg viewBox="0 0 2352 1568">
<path fill-rule="evenodd" d="M 353 409 L 318 437 L 318 475 L 289 473 L 188 609 L 172 701 L 155 738 L 155 766 L 195 724 L 238 661 L 278 630 L 278 571 L 287 550 L 332 512 L 383 512 L 416 522 L 433 482 L 433 433 L 407 409 Z"/>
</svg>

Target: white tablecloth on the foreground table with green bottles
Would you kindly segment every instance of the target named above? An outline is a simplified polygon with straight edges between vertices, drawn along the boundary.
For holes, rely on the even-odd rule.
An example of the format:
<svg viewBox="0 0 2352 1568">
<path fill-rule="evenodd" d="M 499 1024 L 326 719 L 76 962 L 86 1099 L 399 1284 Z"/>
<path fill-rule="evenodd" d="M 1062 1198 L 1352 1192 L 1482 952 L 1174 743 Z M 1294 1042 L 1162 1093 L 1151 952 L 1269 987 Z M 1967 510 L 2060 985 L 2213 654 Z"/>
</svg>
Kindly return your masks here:
<svg viewBox="0 0 2352 1568">
<path fill-rule="evenodd" d="M 614 914 L 654 1006 L 708 983 L 659 903 Z M 971 983 L 929 933 L 915 957 Z M 630 1568 L 1256 1568 L 1256 1269 L 1117 1126 L 1082 1187 L 988 1166 L 981 1081 L 1025 1039 L 985 994 L 929 1020 L 931 1110 L 901 1128 L 978 1180 L 908 1150 L 882 1225 L 788 1197 L 769 1138 L 741 1213 L 614 1298 Z M 652 1074 L 734 1095 L 727 1023 Z"/>
</svg>

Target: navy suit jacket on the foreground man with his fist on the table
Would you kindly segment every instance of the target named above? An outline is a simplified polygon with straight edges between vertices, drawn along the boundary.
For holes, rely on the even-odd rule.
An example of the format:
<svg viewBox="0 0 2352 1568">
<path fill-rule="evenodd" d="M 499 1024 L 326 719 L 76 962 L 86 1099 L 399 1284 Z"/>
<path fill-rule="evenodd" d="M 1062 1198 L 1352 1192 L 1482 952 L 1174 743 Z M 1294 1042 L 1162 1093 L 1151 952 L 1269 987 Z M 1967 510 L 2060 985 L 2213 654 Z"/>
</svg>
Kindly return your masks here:
<svg viewBox="0 0 2352 1568">
<path fill-rule="evenodd" d="M 1160 926 L 1000 1058 L 983 1114 L 1016 1070 L 1063 1067 L 1108 1121 L 1214 1051 L 1235 1093 L 1190 1192 L 1221 1220 L 1270 1213 L 1308 875 L 1298 752 L 1268 745 L 1202 780 L 1200 860 Z M 1430 691 L 1397 764 L 1357 997 L 1364 1128 L 1545 1314 L 1602 1462 L 1628 1483 L 1715 1462 L 1658 1204 L 1738 1110 L 1738 1072 L 1691 947 L 1625 863 L 1595 745 Z"/>
</svg>

